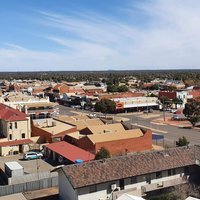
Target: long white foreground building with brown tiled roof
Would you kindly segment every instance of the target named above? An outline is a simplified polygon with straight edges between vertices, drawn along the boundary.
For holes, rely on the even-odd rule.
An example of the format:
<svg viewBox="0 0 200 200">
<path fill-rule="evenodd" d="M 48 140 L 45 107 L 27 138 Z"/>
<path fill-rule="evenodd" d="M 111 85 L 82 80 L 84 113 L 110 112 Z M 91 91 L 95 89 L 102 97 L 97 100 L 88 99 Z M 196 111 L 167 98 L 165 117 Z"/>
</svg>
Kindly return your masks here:
<svg viewBox="0 0 200 200">
<path fill-rule="evenodd" d="M 186 183 L 199 173 L 199 146 L 152 151 L 58 169 L 60 199 L 115 200 Z"/>
</svg>

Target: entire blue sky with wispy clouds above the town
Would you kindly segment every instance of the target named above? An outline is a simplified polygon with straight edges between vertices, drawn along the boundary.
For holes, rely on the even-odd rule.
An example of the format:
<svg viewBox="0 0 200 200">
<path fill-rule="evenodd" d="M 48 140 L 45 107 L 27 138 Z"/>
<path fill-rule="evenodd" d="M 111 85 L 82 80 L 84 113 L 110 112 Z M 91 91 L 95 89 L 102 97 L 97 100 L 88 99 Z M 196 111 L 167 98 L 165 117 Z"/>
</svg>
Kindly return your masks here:
<svg viewBox="0 0 200 200">
<path fill-rule="evenodd" d="M 199 0 L 2 0 L 0 71 L 200 69 Z"/>
</svg>

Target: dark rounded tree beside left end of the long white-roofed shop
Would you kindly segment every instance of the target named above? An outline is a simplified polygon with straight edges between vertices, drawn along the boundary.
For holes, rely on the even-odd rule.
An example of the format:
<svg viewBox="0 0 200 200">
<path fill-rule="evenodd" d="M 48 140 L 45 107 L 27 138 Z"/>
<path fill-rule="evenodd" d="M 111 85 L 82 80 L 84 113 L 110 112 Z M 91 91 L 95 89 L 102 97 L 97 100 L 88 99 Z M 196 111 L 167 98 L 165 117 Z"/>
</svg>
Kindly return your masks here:
<svg viewBox="0 0 200 200">
<path fill-rule="evenodd" d="M 95 104 L 95 111 L 102 113 L 114 113 L 116 111 L 116 104 L 110 99 L 101 99 Z"/>
</svg>

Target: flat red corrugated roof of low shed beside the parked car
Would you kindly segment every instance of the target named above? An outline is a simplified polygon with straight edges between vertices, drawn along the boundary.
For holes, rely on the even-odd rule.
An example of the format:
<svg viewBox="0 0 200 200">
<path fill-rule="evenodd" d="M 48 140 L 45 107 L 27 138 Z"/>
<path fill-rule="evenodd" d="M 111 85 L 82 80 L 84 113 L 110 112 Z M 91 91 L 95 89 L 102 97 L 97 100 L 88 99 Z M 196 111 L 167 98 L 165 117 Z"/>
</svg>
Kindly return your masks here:
<svg viewBox="0 0 200 200">
<path fill-rule="evenodd" d="M 46 147 L 72 162 L 77 159 L 87 162 L 95 158 L 94 154 L 64 141 L 48 144 Z"/>
</svg>

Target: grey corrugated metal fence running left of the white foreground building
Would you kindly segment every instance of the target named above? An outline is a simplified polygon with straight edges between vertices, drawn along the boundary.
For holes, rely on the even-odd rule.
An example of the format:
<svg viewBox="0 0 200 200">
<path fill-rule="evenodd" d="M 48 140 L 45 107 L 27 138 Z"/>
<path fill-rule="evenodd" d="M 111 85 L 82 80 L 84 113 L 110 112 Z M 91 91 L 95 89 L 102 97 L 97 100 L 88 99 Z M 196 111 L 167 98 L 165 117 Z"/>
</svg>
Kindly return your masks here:
<svg viewBox="0 0 200 200">
<path fill-rule="evenodd" d="M 58 186 L 58 176 L 26 183 L 0 186 L 0 196 L 28 192 L 33 190 L 40 190 L 56 186 Z"/>
</svg>

